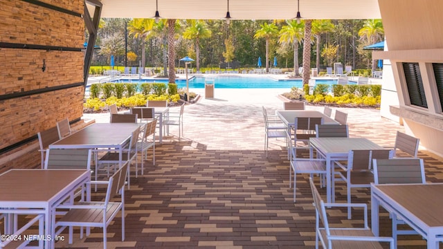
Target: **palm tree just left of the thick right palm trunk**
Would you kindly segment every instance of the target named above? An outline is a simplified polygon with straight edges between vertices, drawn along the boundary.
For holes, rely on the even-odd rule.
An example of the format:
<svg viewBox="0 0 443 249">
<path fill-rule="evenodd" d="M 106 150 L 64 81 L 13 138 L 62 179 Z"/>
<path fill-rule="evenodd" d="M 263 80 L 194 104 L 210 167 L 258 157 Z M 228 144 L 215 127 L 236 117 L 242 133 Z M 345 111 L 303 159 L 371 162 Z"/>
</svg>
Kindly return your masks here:
<svg viewBox="0 0 443 249">
<path fill-rule="evenodd" d="M 286 20 L 285 26 L 282 26 L 280 30 L 280 39 L 278 42 L 280 44 L 288 43 L 291 44 L 293 48 L 293 75 L 298 76 L 298 44 L 303 39 L 303 28 L 305 28 L 305 23 L 298 23 L 297 20 Z"/>
</svg>

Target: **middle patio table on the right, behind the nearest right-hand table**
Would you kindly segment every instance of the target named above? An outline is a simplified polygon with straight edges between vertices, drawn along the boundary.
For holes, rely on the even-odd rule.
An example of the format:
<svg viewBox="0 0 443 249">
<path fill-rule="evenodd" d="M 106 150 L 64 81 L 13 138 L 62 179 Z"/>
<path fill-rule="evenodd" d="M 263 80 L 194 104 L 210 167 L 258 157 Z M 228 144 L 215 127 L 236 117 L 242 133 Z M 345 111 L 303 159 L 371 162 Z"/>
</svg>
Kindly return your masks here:
<svg viewBox="0 0 443 249">
<path fill-rule="evenodd" d="M 309 138 L 309 145 L 317 151 L 317 156 L 326 160 L 326 193 L 327 202 L 335 201 L 334 186 L 334 160 L 347 160 L 351 149 L 384 149 L 367 138 Z"/>
</svg>

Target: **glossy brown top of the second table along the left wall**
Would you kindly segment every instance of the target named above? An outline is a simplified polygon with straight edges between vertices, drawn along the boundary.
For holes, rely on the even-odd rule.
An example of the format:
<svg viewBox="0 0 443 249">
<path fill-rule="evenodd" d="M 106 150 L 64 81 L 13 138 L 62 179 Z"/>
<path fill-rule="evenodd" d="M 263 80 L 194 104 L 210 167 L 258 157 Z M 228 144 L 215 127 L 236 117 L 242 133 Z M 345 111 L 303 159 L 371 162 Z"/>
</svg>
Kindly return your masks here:
<svg viewBox="0 0 443 249">
<path fill-rule="evenodd" d="M 96 149 L 120 147 L 131 138 L 132 131 L 144 123 L 95 123 L 62 140 L 49 145 L 49 149 Z"/>
</svg>

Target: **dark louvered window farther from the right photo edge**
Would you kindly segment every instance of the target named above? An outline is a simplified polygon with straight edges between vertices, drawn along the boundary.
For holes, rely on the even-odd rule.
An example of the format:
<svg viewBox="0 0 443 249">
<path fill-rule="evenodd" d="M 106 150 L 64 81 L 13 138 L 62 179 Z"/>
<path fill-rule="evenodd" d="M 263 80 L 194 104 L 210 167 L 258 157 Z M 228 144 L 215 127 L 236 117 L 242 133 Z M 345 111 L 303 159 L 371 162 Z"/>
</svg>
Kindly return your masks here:
<svg viewBox="0 0 443 249">
<path fill-rule="evenodd" d="M 422 73 L 420 73 L 418 63 L 404 62 L 403 70 L 406 78 L 406 86 L 408 86 L 410 104 L 417 107 L 428 108 L 426 96 L 424 95 Z"/>
</svg>

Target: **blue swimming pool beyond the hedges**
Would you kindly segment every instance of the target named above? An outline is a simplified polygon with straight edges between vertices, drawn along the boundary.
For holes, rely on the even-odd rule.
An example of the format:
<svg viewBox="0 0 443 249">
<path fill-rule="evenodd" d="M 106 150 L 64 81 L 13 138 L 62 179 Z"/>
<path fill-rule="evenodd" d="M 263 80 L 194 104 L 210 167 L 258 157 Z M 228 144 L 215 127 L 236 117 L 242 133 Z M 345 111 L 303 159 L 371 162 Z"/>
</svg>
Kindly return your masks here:
<svg viewBox="0 0 443 249">
<path fill-rule="evenodd" d="M 120 78 L 114 80 L 114 82 L 133 82 L 133 83 L 145 83 L 145 82 L 161 82 L 168 83 L 168 79 L 130 79 L 130 78 Z M 302 87 L 302 80 L 290 80 L 290 79 L 275 79 L 269 76 L 195 76 L 188 80 L 190 89 L 204 89 L 205 82 L 213 82 L 215 88 L 218 89 L 290 89 L 293 86 L 298 88 Z M 186 80 L 178 79 L 176 80 L 178 88 L 186 87 Z M 337 80 L 322 80 L 316 79 L 316 84 L 337 84 Z M 349 82 L 352 84 L 352 82 Z"/>
</svg>

